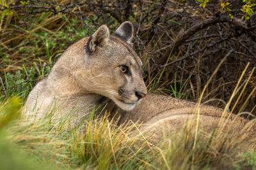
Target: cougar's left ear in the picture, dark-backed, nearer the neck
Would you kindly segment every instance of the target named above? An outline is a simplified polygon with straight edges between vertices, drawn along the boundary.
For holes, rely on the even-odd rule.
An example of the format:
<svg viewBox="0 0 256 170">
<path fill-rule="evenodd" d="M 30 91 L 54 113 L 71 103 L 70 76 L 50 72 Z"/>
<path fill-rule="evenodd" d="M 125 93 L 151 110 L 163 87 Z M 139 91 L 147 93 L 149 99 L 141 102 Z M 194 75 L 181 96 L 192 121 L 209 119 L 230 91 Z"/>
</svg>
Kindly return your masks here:
<svg viewBox="0 0 256 170">
<path fill-rule="evenodd" d="M 109 29 L 106 25 L 101 25 L 89 38 L 86 47 L 90 53 L 95 52 L 97 46 L 104 46 L 109 40 Z"/>
</svg>

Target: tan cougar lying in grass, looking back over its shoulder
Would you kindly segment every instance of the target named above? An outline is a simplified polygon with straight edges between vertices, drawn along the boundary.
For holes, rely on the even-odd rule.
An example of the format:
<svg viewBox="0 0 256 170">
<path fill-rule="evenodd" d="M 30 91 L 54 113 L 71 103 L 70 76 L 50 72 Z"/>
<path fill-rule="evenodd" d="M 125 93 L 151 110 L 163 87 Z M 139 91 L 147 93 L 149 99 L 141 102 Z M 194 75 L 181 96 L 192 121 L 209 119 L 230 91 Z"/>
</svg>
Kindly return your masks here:
<svg viewBox="0 0 256 170">
<path fill-rule="evenodd" d="M 73 116 L 71 124 L 80 124 L 88 115 L 99 116 L 108 110 L 116 113 L 118 123 L 139 122 L 141 131 L 155 134 L 151 141 L 161 137 L 157 129 L 179 129 L 186 120 L 198 117 L 200 127 L 214 129 L 223 110 L 175 99 L 170 96 L 147 94 L 141 75 L 140 57 L 132 49 L 133 26 L 124 22 L 110 35 L 102 25 L 92 36 L 69 46 L 54 64 L 47 77 L 29 93 L 25 104 L 26 117 L 42 118 L 51 115 L 60 120 Z M 200 115 L 195 115 L 196 110 Z M 93 111 L 92 111 L 93 110 Z M 234 132 L 239 132 L 248 120 L 229 115 L 226 127 L 235 120 Z M 153 130 L 152 130 L 153 129 Z M 248 132 L 255 138 L 255 126 Z"/>
</svg>

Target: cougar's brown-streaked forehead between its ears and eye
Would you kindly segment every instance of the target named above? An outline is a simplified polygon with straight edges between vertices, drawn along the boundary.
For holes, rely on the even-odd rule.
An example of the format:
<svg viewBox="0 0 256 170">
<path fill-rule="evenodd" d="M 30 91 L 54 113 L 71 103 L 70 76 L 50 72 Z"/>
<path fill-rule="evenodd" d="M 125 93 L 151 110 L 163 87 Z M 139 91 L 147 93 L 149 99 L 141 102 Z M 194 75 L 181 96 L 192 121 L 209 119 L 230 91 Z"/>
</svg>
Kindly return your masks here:
<svg viewBox="0 0 256 170">
<path fill-rule="evenodd" d="M 119 38 L 116 38 L 115 36 L 111 36 L 110 39 L 118 45 L 118 46 L 116 46 L 117 48 L 122 48 L 121 52 L 122 52 L 122 55 L 124 55 L 124 57 L 127 57 L 127 56 L 131 57 L 129 62 L 131 62 L 130 64 L 132 66 L 137 65 L 139 68 L 142 66 L 143 63 L 142 63 L 140 57 L 136 54 L 136 52 L 134 52 L 131 45 L 125 43 L 124 41 L 122 41 Z"/>
</svg>

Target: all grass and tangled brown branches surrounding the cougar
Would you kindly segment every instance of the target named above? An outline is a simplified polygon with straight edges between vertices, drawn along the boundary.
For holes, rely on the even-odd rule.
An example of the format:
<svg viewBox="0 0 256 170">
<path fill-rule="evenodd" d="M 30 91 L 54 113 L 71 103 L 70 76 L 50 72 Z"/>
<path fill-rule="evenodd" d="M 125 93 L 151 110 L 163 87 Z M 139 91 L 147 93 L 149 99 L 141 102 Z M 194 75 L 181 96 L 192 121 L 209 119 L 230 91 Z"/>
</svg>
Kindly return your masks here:
<svg viewBox="0 0 256 170">
<path fill-rule="evenodd" d="M 198 2 L 0 0 L 0 169 L 255 169 L 255 146 L 241 154 L 239 140 L 214 132 L 195 141 L 193 122 L 152 146 L 132 133 L 138 125 L 117 127 L 107 114 L 86 120 L 84 134 L 20 118 L 29 91 L 69 45 L 125 20 L 148 90 L 253 118 L 255 1 Z"/>
</svg>

